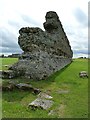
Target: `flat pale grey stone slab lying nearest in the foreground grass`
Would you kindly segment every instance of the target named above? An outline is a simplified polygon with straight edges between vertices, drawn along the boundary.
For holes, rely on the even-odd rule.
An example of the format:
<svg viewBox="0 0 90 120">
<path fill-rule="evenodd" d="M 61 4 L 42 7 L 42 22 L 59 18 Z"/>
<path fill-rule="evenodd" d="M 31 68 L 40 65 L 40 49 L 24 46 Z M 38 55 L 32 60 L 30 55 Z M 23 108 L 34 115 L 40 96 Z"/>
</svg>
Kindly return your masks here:
<svg viewBox="0 0 90 120">
<path fill-rule="evenodd" d="M 37 98 L 36 100 L 34 100 L 32 103 L 29 104 L 29 107 L 31 109 L 41 108 L 41 109 L 47 110 L 52 105 L 53 105 L 52 100 L 46 100 L 46 99 L 42 99 L 42 98 Z"/>
</svg>

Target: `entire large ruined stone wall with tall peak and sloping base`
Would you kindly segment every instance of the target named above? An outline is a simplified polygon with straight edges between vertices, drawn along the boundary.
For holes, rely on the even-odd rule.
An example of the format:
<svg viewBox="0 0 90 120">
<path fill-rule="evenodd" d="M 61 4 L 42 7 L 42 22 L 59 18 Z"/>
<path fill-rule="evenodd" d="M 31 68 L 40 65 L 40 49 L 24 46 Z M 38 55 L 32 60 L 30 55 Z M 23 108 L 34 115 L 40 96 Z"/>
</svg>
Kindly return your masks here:
<svg viewBox="0 0 90 120">
<path fill-rule="evenodd" d="M 73 53 L 57 13 L 47 12 L 45 18 L 45 31 L 38 27 L 19 30 L 18 44 L 24 52 L 9 68 L 16 76 L 46 79 L 71 63 Z"/>
</svg>

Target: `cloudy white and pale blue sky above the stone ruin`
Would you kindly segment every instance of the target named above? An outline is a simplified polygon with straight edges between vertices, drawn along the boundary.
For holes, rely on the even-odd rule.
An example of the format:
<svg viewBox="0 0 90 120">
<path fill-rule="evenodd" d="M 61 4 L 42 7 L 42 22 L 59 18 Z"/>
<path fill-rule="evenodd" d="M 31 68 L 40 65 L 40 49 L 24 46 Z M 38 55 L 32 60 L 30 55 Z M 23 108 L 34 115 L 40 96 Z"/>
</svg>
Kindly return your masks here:
<svg viewBox="0 0 90 120">
<path fill-rule="evenodd" d="M 56 11 L 74 57 L 88 55 L 89 0 L 0 0 L 0 53 L 21 53 L 21 27 L 43 28 L 48 11 Z"/>
</svg>

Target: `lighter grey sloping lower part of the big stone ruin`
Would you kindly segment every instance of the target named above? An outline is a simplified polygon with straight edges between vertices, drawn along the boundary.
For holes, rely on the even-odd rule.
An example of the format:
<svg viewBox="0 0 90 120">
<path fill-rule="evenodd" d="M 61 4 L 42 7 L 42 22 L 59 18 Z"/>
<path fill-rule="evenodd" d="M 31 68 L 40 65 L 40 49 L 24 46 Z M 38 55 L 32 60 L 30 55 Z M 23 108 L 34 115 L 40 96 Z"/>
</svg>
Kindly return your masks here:
<svg viewBox="0 0 90 120">
<path fill-rule="evenodd" d="M 70 63 L 70 58 L 50 55 L 47 52 L 41 51 L 23 54 L 19 62 L 12 66 L 12 70 L 16 72 L 16 76 L 44 80 Z"/>
</svg>

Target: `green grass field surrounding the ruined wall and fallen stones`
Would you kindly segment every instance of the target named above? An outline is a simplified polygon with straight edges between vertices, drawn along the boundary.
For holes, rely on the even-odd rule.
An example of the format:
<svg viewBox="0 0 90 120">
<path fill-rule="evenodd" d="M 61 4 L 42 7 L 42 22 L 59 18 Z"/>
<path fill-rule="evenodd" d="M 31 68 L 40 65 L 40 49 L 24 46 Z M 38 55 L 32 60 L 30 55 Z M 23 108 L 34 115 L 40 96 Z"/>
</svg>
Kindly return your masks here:
<svg viewBox="0 0 90 120">
<path fill-rule="evenodd" d="M 1 59 L 0 59 L 1 60 Z M 2 67 L 16 62 L 15 58 L 3 58 Z M 1 69 L 1 67 L 0 67 Z M 19 83 L 30 83 L 53 97 L 54 104 L 48 110 L 28 108 L 28 104 L 37 96 L 30 92 L 14 90 L 2 94 L 3 118 L 87 118 L 88 117 L 88 79 L 79 78 L 80 71 L 88 71 L 87 59 L 75 59 L 73 62 L 43 81 L 12 79 Z M 3 80 L 3 83 L 8 81 Z M 67 91 L 60 94 L 59 91 Z M 53 110 L 53 115 L 48 115 Z"/>
</svg>

